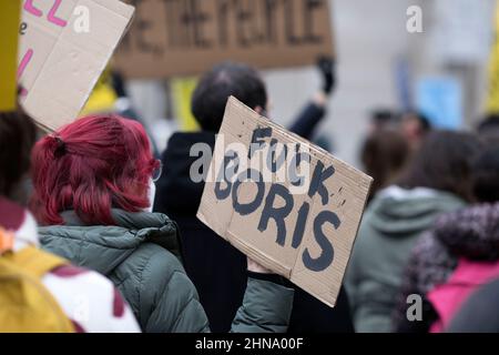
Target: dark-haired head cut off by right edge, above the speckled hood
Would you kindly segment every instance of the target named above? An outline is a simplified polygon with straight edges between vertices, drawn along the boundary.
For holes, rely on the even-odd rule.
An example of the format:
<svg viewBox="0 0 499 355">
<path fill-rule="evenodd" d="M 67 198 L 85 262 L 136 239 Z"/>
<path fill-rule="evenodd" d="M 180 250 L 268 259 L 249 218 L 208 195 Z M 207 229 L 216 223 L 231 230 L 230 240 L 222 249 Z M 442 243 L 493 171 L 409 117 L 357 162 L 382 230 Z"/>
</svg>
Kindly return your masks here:
<svg viewBox="0 0 499 355">
<path fill-rule="evenodd" d="M 486 146 L 472 169 L 473 195 L 480 203 L 499 202 L 499 144 Z"/>
</svg>

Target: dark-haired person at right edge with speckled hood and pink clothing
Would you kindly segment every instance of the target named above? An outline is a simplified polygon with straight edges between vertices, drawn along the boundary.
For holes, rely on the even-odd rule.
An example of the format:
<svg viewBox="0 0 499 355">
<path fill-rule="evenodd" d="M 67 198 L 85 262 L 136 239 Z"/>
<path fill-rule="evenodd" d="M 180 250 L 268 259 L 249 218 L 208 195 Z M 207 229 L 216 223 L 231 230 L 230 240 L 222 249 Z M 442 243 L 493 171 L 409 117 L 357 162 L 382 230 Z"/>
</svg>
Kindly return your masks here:
<svg viewBox="0 0 499 355">
<path fill-rule="evenodd" d="M 441 216 L 413 251 L 395 316 L 398 332 L 445 331 L 475 291 L 499 277 L 499 145 L 480 153 L 471 178 L 478 204 Z M 422 297 L 421 322 L 407 321 L 404 300 L 411 294 Z"/>
</svg>

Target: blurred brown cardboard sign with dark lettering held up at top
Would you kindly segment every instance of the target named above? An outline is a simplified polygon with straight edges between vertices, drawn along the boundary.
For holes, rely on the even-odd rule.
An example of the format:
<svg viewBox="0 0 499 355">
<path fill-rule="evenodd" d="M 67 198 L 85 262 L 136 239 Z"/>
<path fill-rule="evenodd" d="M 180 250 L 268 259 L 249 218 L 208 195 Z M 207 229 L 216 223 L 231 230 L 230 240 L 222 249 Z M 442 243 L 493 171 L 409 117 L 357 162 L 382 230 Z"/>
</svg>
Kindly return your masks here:
<svg viewBox="0 0 499 355">
<path fill-rule="evenodd" d="M 128 78 L 196 75 L 221 61 L 308 65 L 334 54 L 329 0 L 129 0 L 115 64 Z"/>
</svg>

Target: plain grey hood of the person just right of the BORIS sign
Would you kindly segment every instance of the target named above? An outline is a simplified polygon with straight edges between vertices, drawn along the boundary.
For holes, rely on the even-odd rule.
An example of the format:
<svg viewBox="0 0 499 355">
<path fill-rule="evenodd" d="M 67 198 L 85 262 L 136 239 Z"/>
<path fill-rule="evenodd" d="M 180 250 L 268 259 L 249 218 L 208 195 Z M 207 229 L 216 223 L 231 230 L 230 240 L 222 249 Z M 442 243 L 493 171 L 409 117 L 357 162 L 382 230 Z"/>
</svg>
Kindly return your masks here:
<svg viewBox="0 0 499 355">
<path fill-rule="evenodd" d="M 459 197 L 430 189 L 383 190 L 369 207 L 370 225 L 379 233 L 407 236 L 428 230 L 442 213 L 465 205 Z"/>
</svg>

